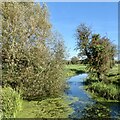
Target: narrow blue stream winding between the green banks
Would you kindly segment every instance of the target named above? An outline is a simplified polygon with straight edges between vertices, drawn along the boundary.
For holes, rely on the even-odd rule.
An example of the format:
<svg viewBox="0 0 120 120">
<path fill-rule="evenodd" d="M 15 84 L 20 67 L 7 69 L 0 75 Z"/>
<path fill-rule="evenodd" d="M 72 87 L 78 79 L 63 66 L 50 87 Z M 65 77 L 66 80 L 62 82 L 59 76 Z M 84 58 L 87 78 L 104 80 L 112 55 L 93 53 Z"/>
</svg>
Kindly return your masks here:
<svg viewBox="0 0 120 120">
<path fill-rule="evenodd" d="M 73 76 L 67 80 L 69 89 L 65 91 L 65 94 L 72 99 L 78 98 L 76 102 L 71 104 L 74 109 L 70 118 L 79 119 L 120 119 L 120 103 L 101 102 L 98 103 L 92 99 L 92 97 L 84 90 L 84 79 L 87 74 L 80 74 Z"/>
</svg>

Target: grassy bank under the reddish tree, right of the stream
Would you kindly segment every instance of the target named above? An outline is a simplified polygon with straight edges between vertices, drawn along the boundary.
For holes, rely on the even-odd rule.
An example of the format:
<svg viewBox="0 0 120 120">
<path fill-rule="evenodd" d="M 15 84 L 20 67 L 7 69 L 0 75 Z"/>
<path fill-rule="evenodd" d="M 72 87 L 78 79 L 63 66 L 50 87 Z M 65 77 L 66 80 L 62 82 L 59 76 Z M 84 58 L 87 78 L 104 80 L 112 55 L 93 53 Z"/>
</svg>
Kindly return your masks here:
<svg viewBox="0 0 120 120">
<path fill-rule="evenodd" d="M 97 101 L 120 101 L 120 73 L 118 65 L 115 65 L 106 74 L 106 78 L 102 82 L 95 78 L 88 78 L 85 83 L 86 90 Z"/>
</svg>

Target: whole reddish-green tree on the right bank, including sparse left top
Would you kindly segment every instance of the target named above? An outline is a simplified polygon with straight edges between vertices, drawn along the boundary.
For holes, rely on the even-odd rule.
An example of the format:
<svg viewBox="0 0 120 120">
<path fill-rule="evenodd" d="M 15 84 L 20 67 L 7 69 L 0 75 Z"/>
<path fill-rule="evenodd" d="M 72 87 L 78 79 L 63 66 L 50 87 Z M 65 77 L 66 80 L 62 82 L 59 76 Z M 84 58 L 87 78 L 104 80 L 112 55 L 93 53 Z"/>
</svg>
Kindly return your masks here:
<svg viewBox="0 0 120 120">
<path fill-rule="evenodd" d="M 99 80 L 113 66 L 115 46 L 107 37 L 100 34 L 92 34 L 90 27 L 85 24 L 78 26 L 76 30 L 77 49 L 79 55 L 88 59 L 88 70 L 95 74 Z"/>
</svg>

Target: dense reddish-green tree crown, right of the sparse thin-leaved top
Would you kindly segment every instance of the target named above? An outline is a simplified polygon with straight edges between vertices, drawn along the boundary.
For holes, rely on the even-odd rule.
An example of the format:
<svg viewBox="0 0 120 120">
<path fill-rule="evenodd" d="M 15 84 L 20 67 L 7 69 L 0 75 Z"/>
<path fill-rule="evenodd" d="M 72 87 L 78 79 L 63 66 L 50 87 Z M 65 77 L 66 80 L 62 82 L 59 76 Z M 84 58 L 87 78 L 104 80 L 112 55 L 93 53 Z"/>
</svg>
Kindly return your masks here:
<svg viewBox="0 0 120 120">
<path fill-rule="evenodd" d="M 101 75 L 105 75 L 112 66 L 111 61 L 112 59 L 114 60 L 115 54 L 112 48 L 113 45 L 108 38 L 100 38 L 96 34 L 92 36 L 89 48 L 91 59 L 89 60 L 88 68 L 90 72 L 97 74 L 98 79 L 101 79 Z"/>
</svg>

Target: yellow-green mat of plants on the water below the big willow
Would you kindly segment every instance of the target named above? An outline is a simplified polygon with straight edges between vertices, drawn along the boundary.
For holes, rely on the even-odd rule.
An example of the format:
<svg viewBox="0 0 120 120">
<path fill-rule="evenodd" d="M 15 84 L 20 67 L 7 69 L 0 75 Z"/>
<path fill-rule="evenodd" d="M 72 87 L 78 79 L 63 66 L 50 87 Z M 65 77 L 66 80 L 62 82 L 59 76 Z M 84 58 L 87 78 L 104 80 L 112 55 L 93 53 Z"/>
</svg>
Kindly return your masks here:
<svg viewBox="0 0 120 120">
<path fill-rule="evenodd" d="M 67 98 L 49 98 L 42 101 L 23 101 L 23 110 L 17 118 L 67 118 L 73 112 Z"/>
</svg>

